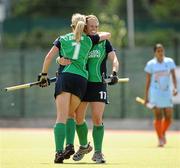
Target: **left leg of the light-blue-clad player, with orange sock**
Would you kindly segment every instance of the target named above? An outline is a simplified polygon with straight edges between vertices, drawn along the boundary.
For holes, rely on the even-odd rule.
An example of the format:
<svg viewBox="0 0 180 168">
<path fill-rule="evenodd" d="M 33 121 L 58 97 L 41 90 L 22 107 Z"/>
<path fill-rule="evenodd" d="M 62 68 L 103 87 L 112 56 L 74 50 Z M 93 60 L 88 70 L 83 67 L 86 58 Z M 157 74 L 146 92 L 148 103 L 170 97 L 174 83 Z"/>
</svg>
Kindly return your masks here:
<svg viewBox="0 0 180 168">
<path fill-rule="evenodd" d="M 162 120 L 163 120 L 163 113 L 161 108 L 155 108 L 154 112 L 154 128 L 156 130 L 156 134 L 158 137 L 158 146 L 163 147 L 163 134 L 162 134 Z"/>
</svg>

